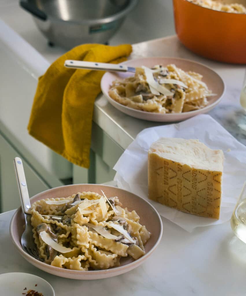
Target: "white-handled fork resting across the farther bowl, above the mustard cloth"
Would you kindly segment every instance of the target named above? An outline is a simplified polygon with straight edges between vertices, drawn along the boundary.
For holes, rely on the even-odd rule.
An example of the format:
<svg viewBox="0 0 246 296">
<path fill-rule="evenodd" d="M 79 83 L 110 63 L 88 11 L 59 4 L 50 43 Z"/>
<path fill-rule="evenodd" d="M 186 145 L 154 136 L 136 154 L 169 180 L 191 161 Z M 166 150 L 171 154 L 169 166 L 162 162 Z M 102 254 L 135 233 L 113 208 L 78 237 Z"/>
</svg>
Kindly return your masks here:
<svg viewBox="0 0 246 296">
<path fill-rule="evenodd" d="M 73 59 L 67 59 L 64 63 L 64 66 L 67 68 L 103 70 L 110 72 L 136 72 L 136 69 L 134 67 L 127 67 L 125 65 L 98 62 L 84 62 Z"/>
</svg>

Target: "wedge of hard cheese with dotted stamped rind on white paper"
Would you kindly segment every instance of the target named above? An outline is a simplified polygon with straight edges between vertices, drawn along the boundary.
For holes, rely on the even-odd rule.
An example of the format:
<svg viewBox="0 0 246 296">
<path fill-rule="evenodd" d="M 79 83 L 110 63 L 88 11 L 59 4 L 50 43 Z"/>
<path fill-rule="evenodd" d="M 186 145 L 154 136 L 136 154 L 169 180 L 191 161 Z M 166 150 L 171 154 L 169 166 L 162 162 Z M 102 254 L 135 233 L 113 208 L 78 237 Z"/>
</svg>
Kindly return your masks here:
<svg viewBox="0 0 246 296">
<path fill-rule="evenodd" d="M 149 148 L 149 198 L 183 212 L 219 218 L 224 155 L 199 140 L 161 138 Z"/>
</svg>

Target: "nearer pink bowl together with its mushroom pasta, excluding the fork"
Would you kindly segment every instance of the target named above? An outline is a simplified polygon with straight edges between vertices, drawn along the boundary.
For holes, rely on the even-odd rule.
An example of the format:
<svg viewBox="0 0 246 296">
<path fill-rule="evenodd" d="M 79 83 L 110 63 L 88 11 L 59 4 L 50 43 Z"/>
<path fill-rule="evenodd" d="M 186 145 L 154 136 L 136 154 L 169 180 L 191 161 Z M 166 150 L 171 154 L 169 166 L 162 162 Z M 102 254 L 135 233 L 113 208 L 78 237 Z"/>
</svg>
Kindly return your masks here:
<svg viewBox="0 0 246 296">
<path fill-rule="evenodd" d="M 61 186 L 31 199 L 33 239 L 40 260 L 20 244 L 24 217 L 17 209 L 10 235 L 28 262 L 70 279 L 103 279 L 142 264 L 162 237 L 162 221 L 146 200 L 97 184 Z"/>
</svg>

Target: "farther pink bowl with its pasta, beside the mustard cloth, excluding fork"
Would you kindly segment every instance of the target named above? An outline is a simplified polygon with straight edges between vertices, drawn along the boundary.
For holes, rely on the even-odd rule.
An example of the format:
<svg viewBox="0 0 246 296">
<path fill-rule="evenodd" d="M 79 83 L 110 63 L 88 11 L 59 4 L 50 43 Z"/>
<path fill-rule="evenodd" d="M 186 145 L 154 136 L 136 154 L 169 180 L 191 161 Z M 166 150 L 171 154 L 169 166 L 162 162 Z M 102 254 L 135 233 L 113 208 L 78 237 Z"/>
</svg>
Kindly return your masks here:
<svg viewBox="0 0 246 296">
<path fill-rule="evenodd" d="M 197 62 L 149 57 L 121 63 L 134 73 L 107 72 L 101 89 L 109 103 L 135 118 L 181 121 L 213 109 L 225 92 L 223 79 Z"/>
</svg>

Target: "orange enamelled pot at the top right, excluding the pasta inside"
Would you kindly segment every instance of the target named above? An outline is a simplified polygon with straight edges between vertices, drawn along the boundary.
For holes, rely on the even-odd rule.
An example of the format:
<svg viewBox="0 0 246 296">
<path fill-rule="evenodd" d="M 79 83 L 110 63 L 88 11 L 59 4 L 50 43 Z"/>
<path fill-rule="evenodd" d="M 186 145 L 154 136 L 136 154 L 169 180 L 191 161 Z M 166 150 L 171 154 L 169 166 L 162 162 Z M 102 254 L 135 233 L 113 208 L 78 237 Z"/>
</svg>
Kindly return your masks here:
<svg viewBox="0 0 246 296">
<path fill-rule="evenodd" d="M 216 11 L 187 0 L 173 0 L 173 8 L 176 33 L 184 46 L 209 59 L 246 64 L 246 14 Z"/>
</svg>

